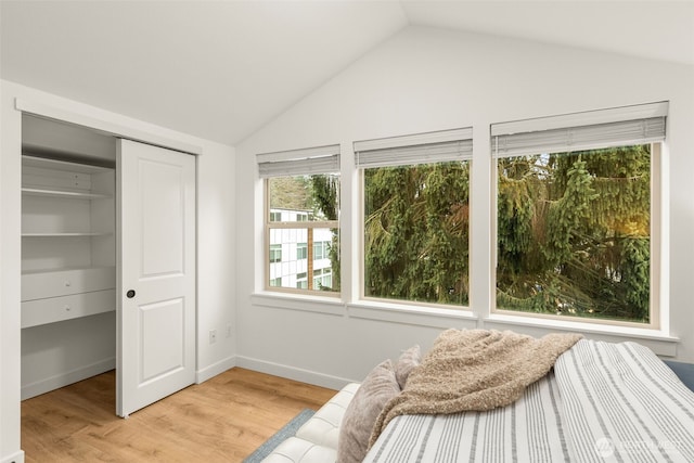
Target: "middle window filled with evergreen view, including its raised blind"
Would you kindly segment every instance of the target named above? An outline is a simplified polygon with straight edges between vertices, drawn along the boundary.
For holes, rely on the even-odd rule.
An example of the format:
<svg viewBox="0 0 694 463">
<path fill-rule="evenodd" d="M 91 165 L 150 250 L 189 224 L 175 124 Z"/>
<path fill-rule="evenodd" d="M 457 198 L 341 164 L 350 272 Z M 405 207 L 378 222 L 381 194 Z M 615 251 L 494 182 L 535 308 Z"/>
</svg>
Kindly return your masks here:
<svg viewBox="0 0 694 463">
<path fill-rule="evenodd" d="M 355 153 L 362 296 L 467 305 L 472 129 L 356 142 Z"/>
</svg>

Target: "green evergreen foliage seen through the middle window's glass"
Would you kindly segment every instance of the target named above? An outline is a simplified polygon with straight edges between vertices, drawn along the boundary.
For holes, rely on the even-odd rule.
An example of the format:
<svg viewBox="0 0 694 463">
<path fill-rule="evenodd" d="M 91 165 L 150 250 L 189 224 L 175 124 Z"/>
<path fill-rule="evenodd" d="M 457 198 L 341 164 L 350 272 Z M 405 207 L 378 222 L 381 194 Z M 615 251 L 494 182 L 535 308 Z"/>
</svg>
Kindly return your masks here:
<svg viewBox="0 0 694 463">
<path fill-rule="evenodd" d="M 364 171 L 365 294 L 468 300 L 467 163 Z"/>
</svg>

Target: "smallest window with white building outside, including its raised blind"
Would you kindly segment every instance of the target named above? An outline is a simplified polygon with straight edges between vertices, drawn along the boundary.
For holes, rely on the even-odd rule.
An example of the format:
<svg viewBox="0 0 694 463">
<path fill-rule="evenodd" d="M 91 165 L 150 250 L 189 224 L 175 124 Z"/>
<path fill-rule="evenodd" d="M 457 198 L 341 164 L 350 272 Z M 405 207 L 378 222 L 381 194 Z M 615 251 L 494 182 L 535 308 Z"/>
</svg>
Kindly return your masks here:
<svg viewBox="0 0 694 463">
<path fill-rule="evenodd" d="M 266 288 L 339 294 L 339 145 L 257 159 L 266 187 Z M 317 270 L 330 278 L 317 279 Z"/>
</svg>

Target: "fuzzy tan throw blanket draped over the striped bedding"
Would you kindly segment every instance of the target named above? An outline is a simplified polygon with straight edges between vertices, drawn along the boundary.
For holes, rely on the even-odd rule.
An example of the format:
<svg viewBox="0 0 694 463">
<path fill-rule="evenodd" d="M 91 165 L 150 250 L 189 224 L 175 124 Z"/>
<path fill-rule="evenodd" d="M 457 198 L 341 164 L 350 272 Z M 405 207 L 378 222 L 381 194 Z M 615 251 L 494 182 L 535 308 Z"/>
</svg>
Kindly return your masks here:
<svg viewBox="0 0 694 463">
<path fill-rule="evenodd" d="M 376 419 L 369 447 L 394 417 L 485 411 L 517 400 L 544 376 L 556 358 L 582 336 L 548 334 L 536 339 L 511 331 L 448 330 L 410 373 L 398 396 Z"/>
</svg>

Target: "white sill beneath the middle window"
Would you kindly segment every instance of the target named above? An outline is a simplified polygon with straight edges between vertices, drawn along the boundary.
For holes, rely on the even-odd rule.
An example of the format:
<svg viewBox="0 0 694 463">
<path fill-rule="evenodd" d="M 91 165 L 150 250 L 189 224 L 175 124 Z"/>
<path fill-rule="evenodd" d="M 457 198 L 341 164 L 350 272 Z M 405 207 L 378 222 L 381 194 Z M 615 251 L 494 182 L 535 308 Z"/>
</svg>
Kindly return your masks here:
<svg viewBox="0 0 694 463">
<path fill-rule="evenodd" d="M 439 309 L 394 303 L 361 300 L 347 305 L 350 317 L 437 329 L 475 329 L 478 317 L 470 310 Z"/>
</svg>

